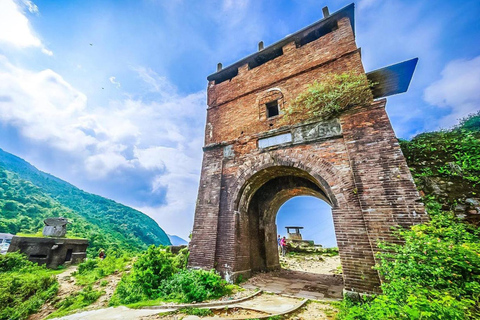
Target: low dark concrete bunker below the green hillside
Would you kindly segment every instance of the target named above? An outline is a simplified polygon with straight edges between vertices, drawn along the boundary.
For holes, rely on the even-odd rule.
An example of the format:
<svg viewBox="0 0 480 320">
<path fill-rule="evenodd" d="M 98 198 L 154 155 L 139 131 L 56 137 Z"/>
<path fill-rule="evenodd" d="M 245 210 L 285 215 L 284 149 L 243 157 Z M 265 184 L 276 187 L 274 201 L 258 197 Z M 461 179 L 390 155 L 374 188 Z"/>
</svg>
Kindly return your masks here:
<svg viewBox="0 0 480 320">
<path fill-rule="evenodd" d="M 14 236 L 8 252 L 20 251 L 28 260 L 55 269 L 59 265 L 82 262 L 87 256 L 87 247 L 87 239 Z"/>
</svg>

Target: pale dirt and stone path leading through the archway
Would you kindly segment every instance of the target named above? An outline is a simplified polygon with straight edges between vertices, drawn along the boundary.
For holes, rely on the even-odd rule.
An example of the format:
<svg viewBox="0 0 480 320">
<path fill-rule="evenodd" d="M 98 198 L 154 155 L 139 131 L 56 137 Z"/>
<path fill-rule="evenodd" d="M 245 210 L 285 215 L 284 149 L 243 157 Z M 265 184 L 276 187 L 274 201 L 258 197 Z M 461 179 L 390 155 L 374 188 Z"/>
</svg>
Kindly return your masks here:
<svg viewBox="0 0 480 320">
<path fill-rule="evenodd" d="M 213 309 L 213 315 L 208 317 L 199 318 L 179 312 L 161 312 L 161 310 L 107 308 L 108 301 L 120 279 L 120 275 L 113 274 L 104 279 L 108 281 L 108 284 L 101 288 L 105 294 L 94 304 L 77 314 L 62 319 L 254 319 L 276 313 L 282 308 L 288 309 L 289 306 L 298 307 L 304 303 L 305 299 L 309 299 L 309 301 L 288 316 L 284 316 L 283 319 L 334 319 L 338 312 L 336 305 L 341 298 L 343 289 L 339 257 L 292 253 L 281 257 L 280 263 L 284 268 L 281 271 L 257 274 L 242 284 L 244 290 L 236 292 L 231 297 L 224 297 L 221 301 L 228 302 L 245 297 L 258 289 L 265 293 L 238 305 Z M 81 289 L 80 286 L 75 285 L 74 278 L 71 276 L 75 270 L 75 267 L 71 267 L 57 276 L 59 280 L 58 298 L 54 302 L 46 304 L 29 320 L 44 319 L 55 311 L 54 303 L 56 301 Z"/>
</svg>

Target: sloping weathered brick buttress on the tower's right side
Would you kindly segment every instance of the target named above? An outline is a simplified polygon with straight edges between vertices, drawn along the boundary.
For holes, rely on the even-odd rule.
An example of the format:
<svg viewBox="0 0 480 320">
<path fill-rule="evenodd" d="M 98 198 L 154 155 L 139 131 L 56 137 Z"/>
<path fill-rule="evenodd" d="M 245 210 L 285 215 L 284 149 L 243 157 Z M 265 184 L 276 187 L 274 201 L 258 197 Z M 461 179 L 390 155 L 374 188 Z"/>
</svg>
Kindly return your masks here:
<svg viewBox="0 0 480 320">
<path fill-rule="evenodd" d="M 355 187 L 374 243 L 395 242 L 391 227 L 408 227 L 426 219 L 385 104 L 383 99 L 341 118 Z"/>
</svg>

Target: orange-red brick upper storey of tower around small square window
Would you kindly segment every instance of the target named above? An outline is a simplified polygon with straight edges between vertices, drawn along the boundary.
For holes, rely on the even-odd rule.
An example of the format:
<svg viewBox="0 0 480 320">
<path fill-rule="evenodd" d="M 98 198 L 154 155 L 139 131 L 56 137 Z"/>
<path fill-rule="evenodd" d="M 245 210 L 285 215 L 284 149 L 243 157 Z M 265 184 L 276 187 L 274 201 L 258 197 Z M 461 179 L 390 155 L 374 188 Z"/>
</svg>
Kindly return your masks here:
<svg viewBox="0 0 480 320">
<path fill-rule="evenodd" d="M 259 121 L 260 108 L 265 108 L 260 100 L 268 89 L 279 88 L 288 104 L 308 84 L 329 73 L 363 72 L 348 19 L 338 24 L 337 30 L 302 47 L 287 44 L 282 56 L 257 68 L 248 70 L 244 65 L 230 81 L 209 83 L 205 144 L 233 141 L 284 125 L 279 118 Z"/>
</svg>

